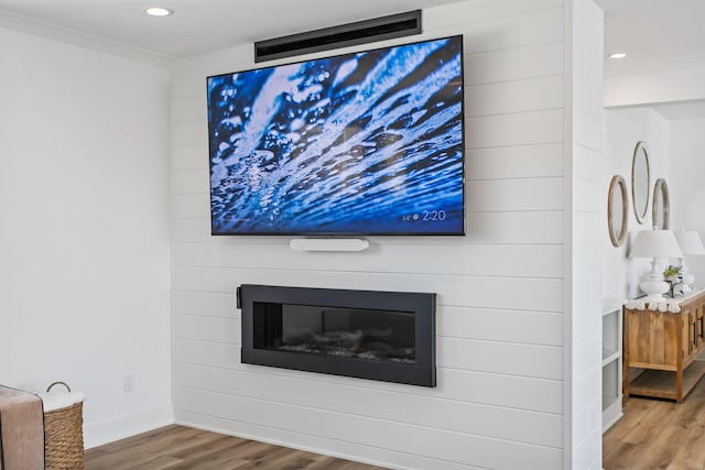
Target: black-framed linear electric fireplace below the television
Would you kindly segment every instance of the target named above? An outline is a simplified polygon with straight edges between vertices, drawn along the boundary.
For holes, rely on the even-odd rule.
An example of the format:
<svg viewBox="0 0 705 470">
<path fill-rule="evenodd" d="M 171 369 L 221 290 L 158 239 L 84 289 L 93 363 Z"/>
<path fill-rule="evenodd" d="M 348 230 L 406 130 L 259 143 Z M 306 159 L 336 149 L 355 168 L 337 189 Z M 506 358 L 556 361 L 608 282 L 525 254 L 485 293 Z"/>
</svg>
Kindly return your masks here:
<svg viewBox="0 0 705 470">
<path fill-rule="evenodd" d="M 435 294 L 243 284 L 242 362 L 435 386 Z"/>
</svg>

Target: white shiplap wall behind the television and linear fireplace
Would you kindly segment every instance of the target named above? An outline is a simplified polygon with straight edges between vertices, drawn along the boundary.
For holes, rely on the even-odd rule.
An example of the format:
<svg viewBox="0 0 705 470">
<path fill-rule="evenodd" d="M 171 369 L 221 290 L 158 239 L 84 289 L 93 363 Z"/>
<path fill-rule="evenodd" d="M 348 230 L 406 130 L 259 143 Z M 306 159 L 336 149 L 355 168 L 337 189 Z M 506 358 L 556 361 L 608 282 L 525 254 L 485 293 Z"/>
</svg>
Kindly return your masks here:
<svg viewBox="0 0 705 470">
<path fill-rule="evenodd" d="M 205 77 L 254 65 L 250 46 L 178 64 L 177 422 L 393 468 L 564 467 L 564 13 L 562 0 L 424 11 L 423 39 L 465 36 L 468 233 L 372 237 L 361 253 L 209 236 Z M 436 292 L 438 386 L 240 364 L 242 283 Z"/>
</svg>

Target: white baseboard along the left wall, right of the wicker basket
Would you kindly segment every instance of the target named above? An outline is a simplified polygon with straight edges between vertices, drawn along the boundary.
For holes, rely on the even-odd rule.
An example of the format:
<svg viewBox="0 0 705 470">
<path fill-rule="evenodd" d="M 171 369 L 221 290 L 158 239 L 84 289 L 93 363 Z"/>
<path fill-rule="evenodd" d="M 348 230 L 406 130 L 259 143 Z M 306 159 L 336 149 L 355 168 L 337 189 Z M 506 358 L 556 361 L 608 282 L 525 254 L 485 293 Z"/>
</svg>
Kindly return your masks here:
<svg viewBox="0 0 705 470">
<path fill-rule="evenodd" d="M 84 424 L 85 448 L 102 446 L 113 440 L 124 439 L 135 434 L 155 429 L 174 423 L 171 406 L 143 409 L 131 415 L 119 416 L 100 423 Z"/>
</svg>

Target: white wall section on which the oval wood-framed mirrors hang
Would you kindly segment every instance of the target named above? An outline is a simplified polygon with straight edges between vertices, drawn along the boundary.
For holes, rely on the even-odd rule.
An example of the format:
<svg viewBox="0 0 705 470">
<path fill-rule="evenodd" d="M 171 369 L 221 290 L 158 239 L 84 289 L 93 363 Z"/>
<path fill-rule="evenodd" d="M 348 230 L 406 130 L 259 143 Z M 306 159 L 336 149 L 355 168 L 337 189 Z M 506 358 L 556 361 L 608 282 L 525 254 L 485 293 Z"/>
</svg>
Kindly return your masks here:
<svg viewBox="0 0 705 470">
<path fill-rule="evenodd" d="M 665 178 L 671 194 L 671 208 L 675 210 L 677 199 L 674 184 L 669 177 L 670 124 L 652 108 L 609 109 L 605 112 L 606 165 L 603 172 L 603 211 L 600 216 L 603 250 L 603 293 L 606 298 L 633 298 L 640 295 L 639 282 L 649 271 L 649 260 L 629 259 L 629 247 L 637 231 L 652 227 L 653 185 L 660 177 Z M 647 143 L 650 166 L 649 208 L 643 223 L 638 223 L 631 199 L 631 160 L 637 142 Z M 607 189 L 614 175 L 621 175 L 627 182 L 629 194 L 628 226 L 629 234 L 625 243 L 615 248 L 607 231 Z M 671 220 L 671 228 L 675 228 Z"/>
</svg>

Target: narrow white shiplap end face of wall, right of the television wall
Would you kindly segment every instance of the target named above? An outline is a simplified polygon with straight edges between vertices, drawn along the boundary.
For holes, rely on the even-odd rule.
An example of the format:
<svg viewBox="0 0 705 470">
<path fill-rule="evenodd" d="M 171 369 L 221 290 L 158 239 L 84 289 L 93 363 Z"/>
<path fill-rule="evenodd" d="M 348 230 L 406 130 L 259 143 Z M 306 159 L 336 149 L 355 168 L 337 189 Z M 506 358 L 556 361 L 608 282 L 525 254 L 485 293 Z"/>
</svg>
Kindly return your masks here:
<svg viewBox="0 0 705 470">
<path fill-rule="evenodd" d="M 603 11 L 592 0 L 566 3 L 566 468 L 601 468 Z M 567 183 L 566 183 L 567 185 Z M 568 204 L 566 204 L 567 206 Z M 567 314 L 570 311 L 570 314 Z"/>
</svg>

